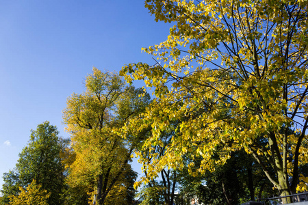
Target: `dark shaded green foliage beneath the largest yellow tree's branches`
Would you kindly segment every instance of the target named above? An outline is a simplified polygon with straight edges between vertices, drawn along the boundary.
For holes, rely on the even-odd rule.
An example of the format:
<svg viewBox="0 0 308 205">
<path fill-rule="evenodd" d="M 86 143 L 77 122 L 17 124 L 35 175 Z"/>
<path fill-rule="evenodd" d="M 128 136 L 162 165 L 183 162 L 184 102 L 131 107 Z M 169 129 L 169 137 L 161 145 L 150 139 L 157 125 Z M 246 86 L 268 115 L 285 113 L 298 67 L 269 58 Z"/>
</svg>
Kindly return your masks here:
<svg viewBox="0 0 308 205">
<path fill-rule="evenodd" d="M 215 172 L 183 179 L 183 191 L 194 191 L 199 202 L 205 204 L 242 204 L 278 193 L 272 190 L 261 167 L 243 150 L 231 153 L 231 158 L 218 165 Z"/>
</svg>

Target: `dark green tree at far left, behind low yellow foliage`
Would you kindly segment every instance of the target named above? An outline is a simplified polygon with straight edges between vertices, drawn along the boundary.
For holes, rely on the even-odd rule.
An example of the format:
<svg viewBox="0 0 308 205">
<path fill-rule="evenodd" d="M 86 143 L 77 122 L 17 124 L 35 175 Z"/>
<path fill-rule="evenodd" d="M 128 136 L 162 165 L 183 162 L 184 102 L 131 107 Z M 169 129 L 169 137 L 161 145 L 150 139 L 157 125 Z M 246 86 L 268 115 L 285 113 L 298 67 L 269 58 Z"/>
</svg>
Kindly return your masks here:
<svg viewBox="0 0 308 205">
<path fill-rule="evenodd" d="M 56 126 L 49 122 L 38 124 L 31 130 L 29 142 L 19 154 L 16 169 L 4 174 L 3 200 L 8 193 L 16 195 L 16 187 L 27 187 L 33 180 L 50 193 L 48 204 L 62 204 L 64 165 L 60 158 L 62 143 Z M 11 191 L 10 191 L 11 190 Z"/>
</svg>

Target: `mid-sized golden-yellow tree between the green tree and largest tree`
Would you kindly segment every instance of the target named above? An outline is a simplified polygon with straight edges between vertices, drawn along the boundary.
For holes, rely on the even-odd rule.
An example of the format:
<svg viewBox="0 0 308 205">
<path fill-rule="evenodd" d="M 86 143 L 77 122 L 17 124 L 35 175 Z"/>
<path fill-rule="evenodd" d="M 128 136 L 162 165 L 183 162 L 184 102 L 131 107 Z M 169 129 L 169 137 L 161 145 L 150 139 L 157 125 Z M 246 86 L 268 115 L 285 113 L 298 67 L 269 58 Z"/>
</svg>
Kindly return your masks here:
<svg viewBox="0 0 308 205">
<path fill-rule="evenodd" d="M 93 68 L 86 77 L 86 92 L 67 100 L 64 123 L 76 154 L 69 184 L 84 186 L 104 204 L 116 182 L 123 178 L 131 152 L 142 139 L 120 134 L 120 128 L 149 103 L 141 89 L 126 86 L 118 74 Z"/>
</svg>

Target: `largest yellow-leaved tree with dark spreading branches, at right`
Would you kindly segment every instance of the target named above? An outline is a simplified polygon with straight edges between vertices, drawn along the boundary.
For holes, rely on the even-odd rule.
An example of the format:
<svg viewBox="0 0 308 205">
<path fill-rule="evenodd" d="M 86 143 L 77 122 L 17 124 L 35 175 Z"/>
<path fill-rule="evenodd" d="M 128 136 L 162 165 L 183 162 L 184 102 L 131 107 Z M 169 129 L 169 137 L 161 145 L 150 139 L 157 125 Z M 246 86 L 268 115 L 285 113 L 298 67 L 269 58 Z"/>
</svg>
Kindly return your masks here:
<svg viewBox="0 0 308 205">
<path fill-rule="evenodd" d="M 144 80 L 157 96 L 142 118 L 153 128 L 144 146 L 158 142 L 170 120 L 185 116 L 152 171 L 181 166 L 188 152 L 202 156 L 198 172 L 214 171 L 244 148 L 282 196 L 296 191 L 298 167 L 308 159 L 303 146 L 308 2 L 146 0 L 145 5 L 155 20 L 174 26 L 166 41 L 143 49 L 157 64 L 129 64 L 121 71 L 129 82 Z M 223 149 L 213 160 L 218 147 Z"/>
</svg>

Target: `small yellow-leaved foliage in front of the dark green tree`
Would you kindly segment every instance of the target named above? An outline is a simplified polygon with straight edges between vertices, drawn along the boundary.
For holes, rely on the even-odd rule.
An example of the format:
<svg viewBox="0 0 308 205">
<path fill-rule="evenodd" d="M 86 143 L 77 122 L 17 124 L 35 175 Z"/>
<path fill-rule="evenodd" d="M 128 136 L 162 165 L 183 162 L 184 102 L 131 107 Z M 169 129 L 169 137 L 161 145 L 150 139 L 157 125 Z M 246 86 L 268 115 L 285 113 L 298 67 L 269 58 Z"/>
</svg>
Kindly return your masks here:
<svg viewBox="0 0 308 205">
<path fill-rule="evenodd" d="M 42 185 L 37 184 L 36 180 L 33 180 L 26 189 L 20 187 L 20 193 L 18 195 L 10 195 L 10 201 L 12 205 L 48 205 L 48 199 L 50 193 L 47 193 L 46 189 L 42 189 Z"/>
</svg>

